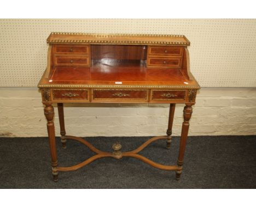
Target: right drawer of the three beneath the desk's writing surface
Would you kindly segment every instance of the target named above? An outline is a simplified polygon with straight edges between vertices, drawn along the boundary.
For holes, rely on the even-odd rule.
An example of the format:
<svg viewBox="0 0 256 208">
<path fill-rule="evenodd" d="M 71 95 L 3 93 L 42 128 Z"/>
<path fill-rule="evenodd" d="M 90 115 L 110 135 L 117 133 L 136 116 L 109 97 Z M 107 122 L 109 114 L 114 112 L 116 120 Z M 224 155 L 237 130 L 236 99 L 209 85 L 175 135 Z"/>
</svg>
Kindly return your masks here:
<svg viewBox="0 0 256 208">
<path fill-rule="evenodd" d="M 152 90 L 150 100 L 185 100 L 187 91 L 183 90 Z"/>
</svg>

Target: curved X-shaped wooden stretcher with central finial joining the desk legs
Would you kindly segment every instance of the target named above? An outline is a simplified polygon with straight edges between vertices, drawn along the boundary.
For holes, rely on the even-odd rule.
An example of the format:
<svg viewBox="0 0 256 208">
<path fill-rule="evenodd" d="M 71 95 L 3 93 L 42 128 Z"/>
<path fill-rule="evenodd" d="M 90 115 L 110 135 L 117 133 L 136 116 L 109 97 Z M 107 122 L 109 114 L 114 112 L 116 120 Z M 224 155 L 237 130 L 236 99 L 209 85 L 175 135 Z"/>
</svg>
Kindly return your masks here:
<svg viewBox="0 0 256 208">
<path fill-rule="evenodd" d="M 80 169 L 80 168 L 90 164 L 91 162 L 93 162 L 95 160 L 98 160 L 100 158 L 103 158 L 103 157 L 113 157 L 115 159 L 120 159 L 122 157 L 134 157 L 134 158 L 137 158 L 138 160 L 141 160 L 141 161 L 149 164 L 150 166 L 153 166 L 155 168 L 159 168 L 161 170 L 182 170 L 182 167 L 178 167 L 178 166 L 164 166 L 162 164 L 153 162 L 153 161 L 149 160 L 148 158 L 143 157 L 142 155 L 138 154 L 138 152 L 140 152 L 141 150 L 146 148 L 146 146 L 148 146 L 152 142 L 155 142 L 156 140 L 160 140 L 160 139 L 165 139 L 166 140 L 167 136 L 153 137 L 153 138 L 147 140 L 147 142 L 143 143 L 137 149 L 129 151 L 129 152 L 121 152 L 120 150 L 121 150 L 122 146 L 119 143 L 113 144 L 113 146 L 112 146 L 112 148 L 114 149 L 113 152 L 103 152 L 101 150 L 98 150 L 94 146 L 92 146 L 89 142 L 87 142 L 86 140 L 84 140 L 81 137 L 74 137 L 74 136 L 64 136 L 64 137 L 65 137 L 65 139 L 77 140 L 78 142 L 88 146 L 88 148 L 92 152 L 95 152 L 96 155 L 88 158 L 87 160 L 85 160 L 82 163 L 76 164 L 75 166 L 71 166 L 71 167 L 57 167 L 56 170 L 60 171 L 60 172 L 68 172 L 68 171 L 72 171 L 72 170 L 78 170 L 78 169 Z"/>
</svg>

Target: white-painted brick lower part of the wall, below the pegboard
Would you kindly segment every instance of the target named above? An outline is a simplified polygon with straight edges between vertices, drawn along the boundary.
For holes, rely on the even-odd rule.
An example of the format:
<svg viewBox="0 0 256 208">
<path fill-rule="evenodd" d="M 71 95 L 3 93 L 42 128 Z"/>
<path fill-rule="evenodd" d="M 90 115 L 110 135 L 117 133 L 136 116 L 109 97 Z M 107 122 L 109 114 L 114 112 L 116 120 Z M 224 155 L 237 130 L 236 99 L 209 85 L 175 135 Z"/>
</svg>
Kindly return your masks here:
<svg viewBox="0 0 256 208">
<path fill-rule="evenodd" d="M 73 136 L 164 135 L 167 104 L 66 105 L 66 132 Z M 56 135 L 59 121 L 55 108 Z M 177 105 L 173 135 L 181 133 L 183 105 Z M 256 88 L 202 88 L 190 120 L 189 135 L 256 134 Z M 0 88 L 0 136 L 47 136 L 37 88 Z"/>
</svg>

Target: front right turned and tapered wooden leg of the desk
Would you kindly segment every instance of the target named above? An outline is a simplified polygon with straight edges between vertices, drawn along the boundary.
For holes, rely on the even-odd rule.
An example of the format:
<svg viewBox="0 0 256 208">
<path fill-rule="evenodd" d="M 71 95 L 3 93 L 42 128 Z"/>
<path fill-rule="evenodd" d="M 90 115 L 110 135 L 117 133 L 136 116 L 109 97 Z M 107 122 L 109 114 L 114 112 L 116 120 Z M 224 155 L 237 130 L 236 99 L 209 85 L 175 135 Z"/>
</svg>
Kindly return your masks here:
<svg viewBox="0 0 256 208">
<path fill-rule="evenodd" d="M 191 104 L 186 104 L 183 110 L 183 117 L 184 117 L 184 122 L 182 124 L 182 133 L 181 133 L 181 142 L 179 143 L 179 156 L 178 156 L 178 161 L 177 164 L 179 167 L 182 168 L 183 165 L 183 160 L 184 160 L 184 152 L 185 152 L 185 147 L 186 147 L 186 142 L 188 138 L 188 130 L 189 130 L 189 120 L 191 118 L 192 114 L 192 105 Z M 176 179 L 179 180 L 181 178 L 182 170 L 177 170 L 176 171 Z"/>
</svg>

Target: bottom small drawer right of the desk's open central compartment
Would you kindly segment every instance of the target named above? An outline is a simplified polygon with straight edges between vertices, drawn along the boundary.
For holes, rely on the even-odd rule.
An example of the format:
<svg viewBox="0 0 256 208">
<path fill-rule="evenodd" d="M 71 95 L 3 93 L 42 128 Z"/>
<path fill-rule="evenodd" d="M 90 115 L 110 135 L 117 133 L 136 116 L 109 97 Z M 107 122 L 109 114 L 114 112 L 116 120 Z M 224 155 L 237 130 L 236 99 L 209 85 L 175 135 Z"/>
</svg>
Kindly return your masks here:
<svg viewBox="0 0 256 208">
<path fill-rule="evenodd" d="M 179 57 L 148 57 L 148 67 L 179 68 L 181 58 Z"/>
</svg>

